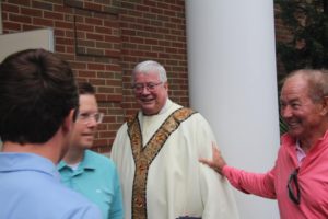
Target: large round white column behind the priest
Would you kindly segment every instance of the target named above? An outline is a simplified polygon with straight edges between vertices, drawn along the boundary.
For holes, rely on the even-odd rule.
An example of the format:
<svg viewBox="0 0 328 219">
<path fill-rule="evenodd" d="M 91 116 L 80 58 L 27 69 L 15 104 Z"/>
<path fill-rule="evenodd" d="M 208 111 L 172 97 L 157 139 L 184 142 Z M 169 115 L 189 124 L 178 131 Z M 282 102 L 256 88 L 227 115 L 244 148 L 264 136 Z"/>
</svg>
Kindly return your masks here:
<svg viewBox="0 0 328 219">
<path fill-rule="evenodd" d="M 230 165 L 270 170 L 279 148 L 272 0 L 187 0 L 190 105 Z M 241 218 L 279 218 L 276 200 L 236 189 Z"/>
</svg>

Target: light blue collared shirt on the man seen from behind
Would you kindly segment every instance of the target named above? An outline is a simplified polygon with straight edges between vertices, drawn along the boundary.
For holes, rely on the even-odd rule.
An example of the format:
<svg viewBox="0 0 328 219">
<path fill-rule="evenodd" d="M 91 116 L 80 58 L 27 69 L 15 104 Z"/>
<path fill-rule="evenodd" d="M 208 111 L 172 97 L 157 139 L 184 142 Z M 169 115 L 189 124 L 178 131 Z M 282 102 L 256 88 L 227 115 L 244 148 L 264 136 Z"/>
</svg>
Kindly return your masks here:
<svg viewBox="0 0 328 219">
<path fill-rule="evenodd" d="M 65 187 L 56 165 L 34 153 L 0 153 L 0 219 L 101 219 L 99 209 Z"/>
</svg>

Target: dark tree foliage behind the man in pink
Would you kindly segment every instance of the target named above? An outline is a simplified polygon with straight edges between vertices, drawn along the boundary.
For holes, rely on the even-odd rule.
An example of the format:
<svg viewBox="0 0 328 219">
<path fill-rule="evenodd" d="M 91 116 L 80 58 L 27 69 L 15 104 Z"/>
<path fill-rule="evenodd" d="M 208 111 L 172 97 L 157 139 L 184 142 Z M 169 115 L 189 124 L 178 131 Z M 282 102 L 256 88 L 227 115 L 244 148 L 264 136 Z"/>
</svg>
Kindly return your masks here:
<svg viewBox="0 0 328 219">
<path fill-rule="evenodd" d="M 288 72 L 328 67 L 328 0 L 274 0 L 277 14 L 291 39 L 277 42 L 277 53 Z"/>
</svg>

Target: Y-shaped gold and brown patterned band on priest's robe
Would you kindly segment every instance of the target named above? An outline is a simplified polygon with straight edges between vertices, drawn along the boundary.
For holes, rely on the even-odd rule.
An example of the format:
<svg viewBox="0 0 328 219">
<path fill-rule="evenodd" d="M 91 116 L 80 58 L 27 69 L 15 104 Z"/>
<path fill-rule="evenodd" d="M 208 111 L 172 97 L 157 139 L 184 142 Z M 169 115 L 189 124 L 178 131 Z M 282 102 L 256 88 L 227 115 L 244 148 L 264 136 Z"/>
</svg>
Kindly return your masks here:
<svg viewBox="0 0 328 219">
<path fill-rule="evenodd" d="M 162 126 L 156 130 L 145 147 L 142 147 L 142 135 L 138 114 L 134 118 L 127 122 L 128 135 L 130 137 L 132 154 L 136 164 L 133 189 L 132 189 L 132 218 L 147 219 L 147 177 L 148 170 L 155 159 L 167 138 L 179 125 L 189 118 L 194 113 L 192 110 L 183 107 L 173 112 Z"/>
</svg>

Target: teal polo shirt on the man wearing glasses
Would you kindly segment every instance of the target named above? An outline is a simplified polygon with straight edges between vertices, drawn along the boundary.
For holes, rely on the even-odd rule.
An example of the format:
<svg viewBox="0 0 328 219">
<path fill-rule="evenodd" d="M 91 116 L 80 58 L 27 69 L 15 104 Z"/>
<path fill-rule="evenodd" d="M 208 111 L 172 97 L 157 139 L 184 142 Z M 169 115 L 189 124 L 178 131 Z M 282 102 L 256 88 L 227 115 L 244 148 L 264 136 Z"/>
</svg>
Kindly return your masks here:
<svg viewBox="0 0 328 219">
<path fill-rule="evenodd" d="M 77 170 L 65 161 L 58 164 L 61 182 L 96 204 L 104 219 L 122 219 L 122 195 L 114 162 L 105 155 L 85 150 Z"/>
</svg>

